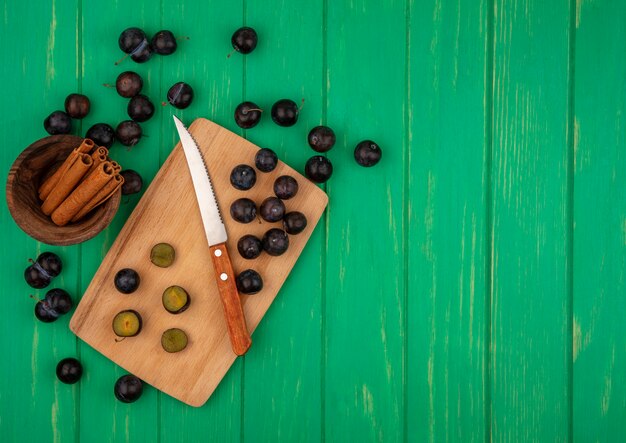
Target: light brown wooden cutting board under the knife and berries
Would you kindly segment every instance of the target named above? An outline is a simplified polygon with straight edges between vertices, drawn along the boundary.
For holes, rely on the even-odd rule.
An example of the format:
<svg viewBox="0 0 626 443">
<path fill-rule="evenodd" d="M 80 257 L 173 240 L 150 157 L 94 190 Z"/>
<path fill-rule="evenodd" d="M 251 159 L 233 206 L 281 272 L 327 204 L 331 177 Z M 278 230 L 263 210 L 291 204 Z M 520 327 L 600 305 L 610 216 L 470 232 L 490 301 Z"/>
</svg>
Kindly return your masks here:
<svg viewBox="0 0 626 443">
<path fill-rule="evenodd" d="M 271 173 L 257 171 L 257 183 L 249 191 L 230 184 L 230 172 L 238 164 L 254 166 L 257 146 L 206 120 L 197 119 L 189 128 L 208 164 L 218 203 L 228 232 L 228 249 L 235 273 L 252 268 L 261 274 L 263 290 L 242 295 L 248 329 L 253 331 L 302 252 L 313 228 L 328 203 L 326 194 L 295 170 L 280 162 Z M 265 253 L 245 260 L 237 252 L 237 240 L 244 234 L 261 238 L 279 223 L 261 219 L 248 224 L 235 222 L 229 213 L 231 202 L 248 197 L 257 205 L 273 195 L 274 180 L 293 176 L 298 194 L 285 201 L 287 211 L 300 211 L 308 220 L 306 229 L 289 236 L 289 249 L 279 257 Z M 169 268 L 150 262 L 152 246 L 166 242 L 176 250 Z M 122 294 L 113 279 L 122 268 L 135 269 L 141 278 L 139 289 Z M 191 296 L 189 308 L 178 315 L 162 305 L 163 290 L 179 285 Z M 111 323 L 119 311 L 134 309 L 143 319 L 136 337 L 116 342 Z M 181 328 L 189 337 L 185 350 L 168 354 L 161 348 L 161 334 Z M 115 363 L 157 389 L 189 405 L 201 406 L 213 393 L 236 355 L 233 353 L 222 310 L 200 211 L 180 143 L 128 218 L 96 272 L 70 321 L 71 330 Z M 254 352 L 254 336 L 249 352 Z"/>
</svg>

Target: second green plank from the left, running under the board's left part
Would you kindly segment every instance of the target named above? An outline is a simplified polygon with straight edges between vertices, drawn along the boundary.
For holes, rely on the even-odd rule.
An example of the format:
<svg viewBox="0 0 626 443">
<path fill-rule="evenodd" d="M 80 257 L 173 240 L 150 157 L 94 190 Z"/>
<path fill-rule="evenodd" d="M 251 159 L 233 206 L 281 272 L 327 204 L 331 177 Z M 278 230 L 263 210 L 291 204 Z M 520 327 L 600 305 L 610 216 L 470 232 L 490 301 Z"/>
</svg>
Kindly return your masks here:
<svg viewBox="0 0 626 443">
<path fill-rule="evenodd" d="M 126 70 L 139 73 L 144 79 L 142 93 L 157 104 L 155 117 L 141 123 L 144 134 L 149 137 L 130 150 L 116 143 L 110 155 L 124 169 L 138 171 L 149 183 L 159 167 L 158 115 L 162 112 L 158 106 L 159 58 L 154 57 L 144 64 L 130 59 L 119 66 L 115 66 L 114 62 L 124 55 L 117 45 L 120 33 L 130 26 L 138 26 L 149 35 L 158 31 L 161 10 L 145 2 L 110 4 L 105 9 L 84 4 L 82 14 L 82 90 L 92 100 L 91 113 L 83 121 L 83 134 L 95 123 L 108 123 L 115 128 L 119 122 L 129 118 L 126 111 L 128 99 L 120 97 L 114 88 L 105 88 L 102 84 L 115 84 L 117 76 Z M 80 286 L 83 293 L 140 196 L 123 196 L 109 228 L 82 245 Z M 139 401 L 121 403 L 113 395 L 113 386 L 118 377 L 127 372 L 84 343 L 81 343 L 80 354 L 85 365 L 93 369 L 86 372 L 81 383 L 80 438 L 107 436 L 110 441 L 156 441 L 159 435 L 156 426 L 159 410 L 157 391 L 146 386 Z"/>
</svg>

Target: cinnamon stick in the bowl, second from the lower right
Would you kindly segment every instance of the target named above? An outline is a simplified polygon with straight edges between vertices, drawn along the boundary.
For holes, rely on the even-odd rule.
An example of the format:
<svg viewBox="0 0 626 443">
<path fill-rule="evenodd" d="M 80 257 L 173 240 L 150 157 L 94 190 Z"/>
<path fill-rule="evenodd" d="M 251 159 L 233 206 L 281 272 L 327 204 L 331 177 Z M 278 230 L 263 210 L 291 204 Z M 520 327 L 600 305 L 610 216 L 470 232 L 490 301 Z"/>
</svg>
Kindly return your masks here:
<svg viewBox="0 0 626 443">
<path fill-rule="evenodd" d="M 93 157 L 92 161 L 93 161 Z M 72 193 L 52 212 L 52 221 L 64 226 L 102 189 L 113 177 L 111 162 L 102 162 L 72 191 Z"/>
</svg>

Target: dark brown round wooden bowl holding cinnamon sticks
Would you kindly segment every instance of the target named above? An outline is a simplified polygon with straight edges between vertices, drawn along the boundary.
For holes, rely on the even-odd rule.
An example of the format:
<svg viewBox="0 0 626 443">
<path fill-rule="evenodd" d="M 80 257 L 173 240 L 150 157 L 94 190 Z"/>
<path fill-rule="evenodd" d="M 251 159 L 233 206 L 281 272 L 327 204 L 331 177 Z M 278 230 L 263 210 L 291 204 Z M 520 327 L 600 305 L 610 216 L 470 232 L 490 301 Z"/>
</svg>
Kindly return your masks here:
<svg viewBox="0 0 626 443">
<path fill-rule="evenodd" d="M 82 141 L 75 135 L 53 135 L 26 148 L 13 162 L 7 179 L 7 204 L 15 223 L 31 237 L 49 245 L 67 246 L 95 237 L 106 228 L 120 205 L 119 190 L 76 223 L 55 225 L 41 211 L 37 190 L 45 178 Z"/>
</svg>

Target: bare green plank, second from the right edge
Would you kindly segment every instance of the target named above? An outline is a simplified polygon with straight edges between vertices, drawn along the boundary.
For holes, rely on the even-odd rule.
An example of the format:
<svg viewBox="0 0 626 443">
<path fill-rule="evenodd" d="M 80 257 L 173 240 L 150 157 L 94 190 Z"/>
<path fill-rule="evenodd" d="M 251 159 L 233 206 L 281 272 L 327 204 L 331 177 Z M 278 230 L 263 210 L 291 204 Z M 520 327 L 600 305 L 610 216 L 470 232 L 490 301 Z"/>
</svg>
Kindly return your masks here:
<svg viewBox="0 0 626 443">
<path fill-rule="evenodd" d="M 495 2 L 491 439 L 570 437 L 570 2 Z"/>
</svg>

